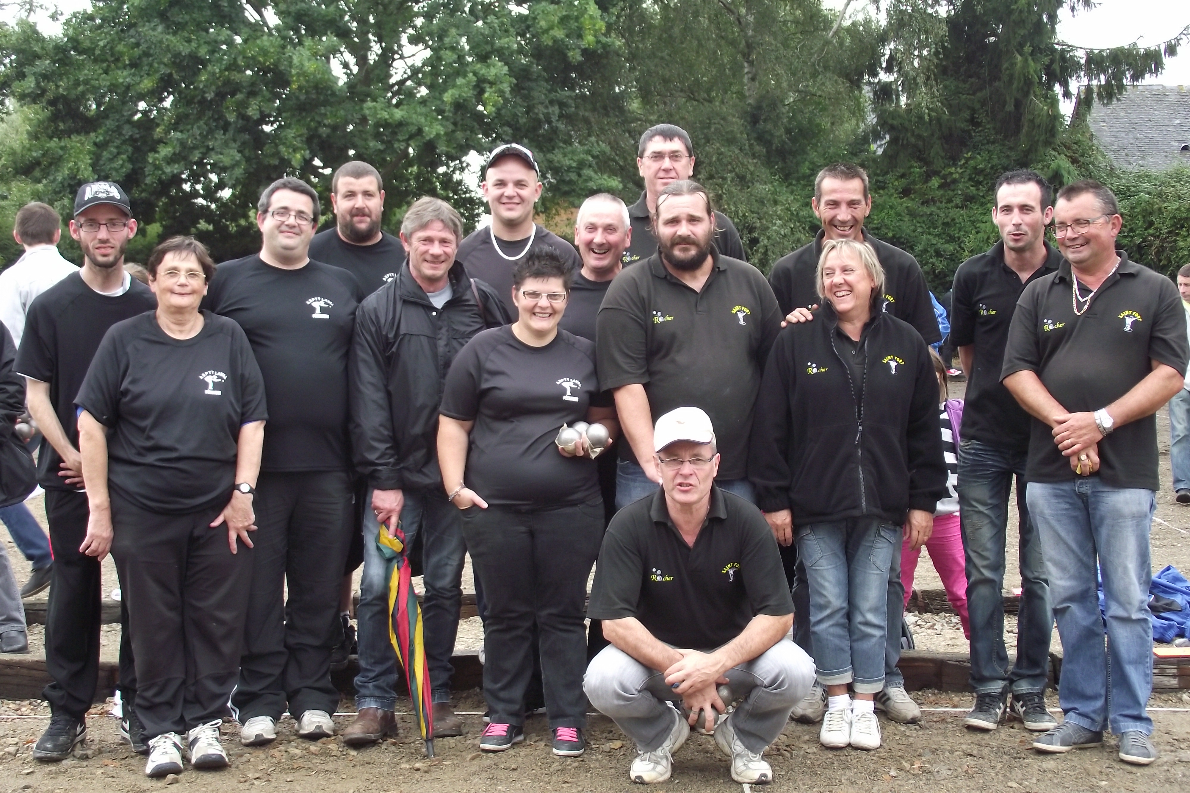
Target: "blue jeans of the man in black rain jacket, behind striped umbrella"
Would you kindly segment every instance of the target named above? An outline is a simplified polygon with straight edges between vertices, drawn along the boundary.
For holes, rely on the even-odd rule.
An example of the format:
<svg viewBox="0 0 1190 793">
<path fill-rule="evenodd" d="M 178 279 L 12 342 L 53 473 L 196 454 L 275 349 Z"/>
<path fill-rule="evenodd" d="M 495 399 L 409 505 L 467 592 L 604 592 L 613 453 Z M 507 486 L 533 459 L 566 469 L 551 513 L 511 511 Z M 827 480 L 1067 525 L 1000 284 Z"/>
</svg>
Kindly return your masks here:
<svg viewBox="0 0 1190 793">
<path fill-rule="evenodd" d="M 425 598 L 421 623 L 425 630 L 426 663 L 430 667 L 432 701 L 450 701 L 450 680 L 455 672 L 451 655 L 458 635 L 463 600 L 463 561 L 466 544 L 458 507 L 439 489 L 406 488 L 401 526 L 408 547 L 421 535 L 421 568 Z M 396 710 L 396 651 L 388 636 L 388 580 L 384 558 L 376 548 L 376 513 L 371 491 L 364 505 L 364 572 L 356 610 L 359 642 L 359 674 L 356 675 L 356 707 Z"/>
</svg>

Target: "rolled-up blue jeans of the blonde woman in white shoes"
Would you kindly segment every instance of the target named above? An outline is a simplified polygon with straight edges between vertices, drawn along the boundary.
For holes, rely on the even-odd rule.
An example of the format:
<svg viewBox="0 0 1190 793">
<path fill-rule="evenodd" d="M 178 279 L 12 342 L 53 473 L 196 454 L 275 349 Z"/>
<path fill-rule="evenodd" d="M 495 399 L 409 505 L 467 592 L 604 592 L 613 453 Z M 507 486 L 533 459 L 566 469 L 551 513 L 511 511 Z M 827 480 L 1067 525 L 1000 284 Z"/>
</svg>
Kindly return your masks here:
<svg viewBox="0 0 1190 793">
<path fill-rule="evenodd" d="M 798 526 L 796 541 L 819 682 L 875 694 L 884 688 L 889 569 L 901 555 L 901 527 L 878 518 L 814 523 Z"/>
</svg>

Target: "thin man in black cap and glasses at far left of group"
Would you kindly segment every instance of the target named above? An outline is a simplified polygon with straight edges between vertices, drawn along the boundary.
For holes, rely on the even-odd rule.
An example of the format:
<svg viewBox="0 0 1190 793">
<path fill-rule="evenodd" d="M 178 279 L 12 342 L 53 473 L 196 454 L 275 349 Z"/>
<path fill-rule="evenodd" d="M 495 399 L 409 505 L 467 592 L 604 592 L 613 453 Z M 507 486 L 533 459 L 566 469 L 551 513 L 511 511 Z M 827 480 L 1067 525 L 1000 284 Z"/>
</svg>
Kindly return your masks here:
<svg viewBox="0 0 1190 793">
<path fill-rule="evenodd" d="M 149 287 L 124 271 L 124 250 L 136 232 L 129 196 L 119 185 L 90 182 L 79 188 L 70 236 L 82 248 L 83 266 L 33 300 L 17 354 L 17 371 L 29 386 L 29 412 L 43 435 L 38 481 L 45 488 L 54 551 L 45 614 L 45 667 L 54 682 L 44 693 L 52 716 L 33 747 L 38 760 L 65 760 L 87 737 L 84 719 L 99 681 L 100 562 L 111 537 L 88 531 L 90 510 L 82 489 L 74 400 L 107 329 L 157 305 Z M 121 617 L 126 624 L 126 614 Z M 120 731 L 136 751 L 144 753 L 133 710 L 136 669 L 127 632 L 120 639 Z"/>
</svg>

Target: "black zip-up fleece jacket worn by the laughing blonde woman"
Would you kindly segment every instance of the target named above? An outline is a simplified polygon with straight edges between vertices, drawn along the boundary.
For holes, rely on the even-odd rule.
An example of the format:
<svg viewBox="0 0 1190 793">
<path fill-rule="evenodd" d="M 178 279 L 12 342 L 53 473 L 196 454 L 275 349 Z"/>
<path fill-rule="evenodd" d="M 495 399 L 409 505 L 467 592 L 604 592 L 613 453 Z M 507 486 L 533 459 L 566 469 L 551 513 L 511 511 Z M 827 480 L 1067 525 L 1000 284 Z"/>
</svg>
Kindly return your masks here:
<svg viewBox="0 0 1190 793">
<path fill-rule="evenodd" d="M 777 336 L 756 402 L 749 479 L 765 512 L 807 525 L 864 516 L 901 525 L 946 495 L 938 380 L 921 336 L 875 312 L 857 401 L 829 304 Z"/>
</svg>

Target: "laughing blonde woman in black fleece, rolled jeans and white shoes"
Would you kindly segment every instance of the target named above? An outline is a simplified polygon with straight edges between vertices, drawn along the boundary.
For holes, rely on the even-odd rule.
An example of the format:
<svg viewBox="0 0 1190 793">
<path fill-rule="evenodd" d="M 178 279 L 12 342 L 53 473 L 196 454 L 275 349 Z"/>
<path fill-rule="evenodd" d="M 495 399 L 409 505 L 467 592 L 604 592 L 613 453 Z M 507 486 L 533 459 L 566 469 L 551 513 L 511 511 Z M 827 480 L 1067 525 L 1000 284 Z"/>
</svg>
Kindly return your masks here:
<svg viewBox="0 0 1190 793">
<path fill-rule="evenodd" d="M 749 476 L 777 542 L 797 543 L 810 595 L 820 741 L 881 745 L 889 566 L 920 548 L 946 495 L 938 381 L 912 325 L 882 312 L 871 245 L 823 243 L 815 321 L 777 336 L 757 398 Z M 848 698 L 848 686 L 856 700 Z"/>
</svg>

